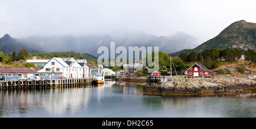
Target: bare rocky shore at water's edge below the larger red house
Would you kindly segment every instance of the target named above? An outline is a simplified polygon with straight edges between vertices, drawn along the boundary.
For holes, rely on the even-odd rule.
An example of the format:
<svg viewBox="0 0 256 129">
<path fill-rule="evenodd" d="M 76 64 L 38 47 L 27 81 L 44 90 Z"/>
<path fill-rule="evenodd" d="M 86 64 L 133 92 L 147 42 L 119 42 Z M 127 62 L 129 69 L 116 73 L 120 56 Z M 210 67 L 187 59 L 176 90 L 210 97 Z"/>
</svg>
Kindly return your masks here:
<svg viewBox="0 0 256 129">
<path fill-rule="evenodd" d="M 144 89 L 146 94 L 240 94 L 256 91 L 256 76 L 184 78 L 167 77 L 155 86 Z"/>
</svg>

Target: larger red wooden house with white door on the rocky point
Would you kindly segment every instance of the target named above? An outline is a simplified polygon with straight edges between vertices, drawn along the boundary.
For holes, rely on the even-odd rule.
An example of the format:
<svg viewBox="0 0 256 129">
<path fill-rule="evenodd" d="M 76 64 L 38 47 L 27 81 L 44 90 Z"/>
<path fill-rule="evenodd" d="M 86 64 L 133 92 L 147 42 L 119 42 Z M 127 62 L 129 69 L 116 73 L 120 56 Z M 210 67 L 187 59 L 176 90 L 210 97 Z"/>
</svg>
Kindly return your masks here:
<svg viewBox="0 0 256 129">
<path fill-rule="evenodd" d="M 187 70 L 188 76 L 191 77 L 202 77 L 202 76 L 209 76 L 210 70 L 200 63 L 193 64 L 190 68 Z"/>
</svg>

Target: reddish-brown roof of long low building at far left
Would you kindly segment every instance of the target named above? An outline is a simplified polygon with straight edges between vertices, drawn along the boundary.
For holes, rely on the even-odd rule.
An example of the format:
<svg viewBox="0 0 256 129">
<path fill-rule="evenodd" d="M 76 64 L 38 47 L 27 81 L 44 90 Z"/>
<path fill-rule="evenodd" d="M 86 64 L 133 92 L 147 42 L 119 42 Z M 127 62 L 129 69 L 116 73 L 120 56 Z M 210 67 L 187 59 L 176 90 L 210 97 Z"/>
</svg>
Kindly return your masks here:
<svg viewBox="0 0 256 129">
<path fill-rule="evenodd" d="M 0 73 L 35 73 L 42 67 L 0 67 Z"/>
</svg>

